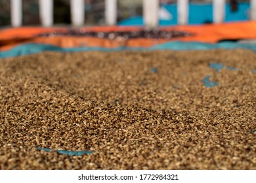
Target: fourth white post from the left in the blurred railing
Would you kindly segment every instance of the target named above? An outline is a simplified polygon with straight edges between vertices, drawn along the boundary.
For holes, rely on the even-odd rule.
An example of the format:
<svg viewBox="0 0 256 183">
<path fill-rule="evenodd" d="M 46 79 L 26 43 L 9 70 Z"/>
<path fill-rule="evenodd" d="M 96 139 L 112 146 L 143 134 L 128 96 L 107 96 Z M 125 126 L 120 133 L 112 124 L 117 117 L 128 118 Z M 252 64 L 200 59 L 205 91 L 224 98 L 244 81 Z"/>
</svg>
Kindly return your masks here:
<svg viewBox="0 0 256 183">
<path fill-rule="evenodd" d="M 105 0 L 105 21 L 108 25 L 116 25 L 117 0 Z"/>
</svg>

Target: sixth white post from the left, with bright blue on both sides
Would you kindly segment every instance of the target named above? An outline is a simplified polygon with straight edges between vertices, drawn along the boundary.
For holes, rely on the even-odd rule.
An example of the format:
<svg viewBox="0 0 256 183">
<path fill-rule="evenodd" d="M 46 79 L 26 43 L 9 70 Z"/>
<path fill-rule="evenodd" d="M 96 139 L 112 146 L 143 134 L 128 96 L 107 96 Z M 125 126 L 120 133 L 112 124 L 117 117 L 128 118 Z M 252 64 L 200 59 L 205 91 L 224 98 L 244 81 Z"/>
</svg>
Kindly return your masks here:
<svg viewBox="0 0 256 183">
<path fill-rule="evenodd" d="M 178 24 L 185 25 L 188 24 L 188 0 L 178 0 Z M 200 12 L 196 12 L 200 13 Z"/>
</svg>

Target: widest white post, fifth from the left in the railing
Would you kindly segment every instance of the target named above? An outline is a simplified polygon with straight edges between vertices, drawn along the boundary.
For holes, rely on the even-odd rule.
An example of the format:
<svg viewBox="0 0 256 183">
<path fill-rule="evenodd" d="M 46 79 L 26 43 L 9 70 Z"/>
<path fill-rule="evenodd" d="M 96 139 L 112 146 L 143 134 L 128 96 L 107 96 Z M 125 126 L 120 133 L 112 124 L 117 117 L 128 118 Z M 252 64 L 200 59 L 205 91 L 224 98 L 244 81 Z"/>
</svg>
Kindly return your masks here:
<svg viewBox="0 0 256 183">
<path fill-rule="evenodd" d="M 143 0 L 143 19 L 146 27 L 158 27 L 159 1 Z"/>
</svg>

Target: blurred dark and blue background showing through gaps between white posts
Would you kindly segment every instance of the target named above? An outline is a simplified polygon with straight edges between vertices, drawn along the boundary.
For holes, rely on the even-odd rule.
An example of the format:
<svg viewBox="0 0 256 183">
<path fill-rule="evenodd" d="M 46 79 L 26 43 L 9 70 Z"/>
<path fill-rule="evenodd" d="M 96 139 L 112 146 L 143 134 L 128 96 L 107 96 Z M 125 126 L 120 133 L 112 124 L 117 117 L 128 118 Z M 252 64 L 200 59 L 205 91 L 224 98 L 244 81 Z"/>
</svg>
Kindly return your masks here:
<svg viewBox="0 0 256 183">
<path fill-rule="evenodd" d="M 23 25 L 40 25 L 38 0 L 23 0 Z M 177 1 L 160 1 L 160 25 L 177 24 Z M 249 0 L 226 1 L 225 21 L 249 20 Z M 234 3 L 238 3 L 234 7 Z M 232 4 L 233 6 L 231 6 Z M 0 26 L 11 25 L 10 0 L 0 1 Z M 142 25 L 142 0 L 118 0 L 117 24 Z M 54 25 L 70 25 L 70 0 L 54 0 Z M 213 21 L 211 0 L 190 0 L 188 24 Z M 104 0 L 85 0 L 85 24 L 104 25 Z"/>
</svg>

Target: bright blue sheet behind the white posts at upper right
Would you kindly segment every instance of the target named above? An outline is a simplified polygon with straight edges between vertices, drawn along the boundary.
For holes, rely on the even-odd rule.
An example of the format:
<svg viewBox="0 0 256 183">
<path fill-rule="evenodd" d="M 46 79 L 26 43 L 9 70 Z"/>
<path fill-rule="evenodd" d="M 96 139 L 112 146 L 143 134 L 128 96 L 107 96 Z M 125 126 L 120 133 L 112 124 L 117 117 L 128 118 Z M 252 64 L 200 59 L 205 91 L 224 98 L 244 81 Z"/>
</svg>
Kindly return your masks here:
<svg viewBox="0 0 256 183">
<path fill-rule="evenodd" d="M 160 25 L 177 25 L 177 5 L 162 5 L 171 13 L 171 20 L 160 20 Z M 213 22 L 213 5 L 212 4 L 190 4 L 188 14 L 188 24 L 205 24 Z M 225 22 L 246 21 L 249 20 L 249 3 L 238 3 L 238 10 L 232 12 L 230 5 L 225 7 Z M 127 18 L 118 23 L 118 25 L 143 25 L 142 16 Z"/>
</svg>

